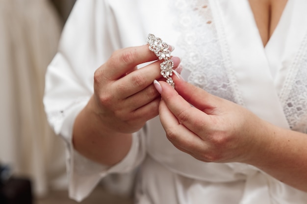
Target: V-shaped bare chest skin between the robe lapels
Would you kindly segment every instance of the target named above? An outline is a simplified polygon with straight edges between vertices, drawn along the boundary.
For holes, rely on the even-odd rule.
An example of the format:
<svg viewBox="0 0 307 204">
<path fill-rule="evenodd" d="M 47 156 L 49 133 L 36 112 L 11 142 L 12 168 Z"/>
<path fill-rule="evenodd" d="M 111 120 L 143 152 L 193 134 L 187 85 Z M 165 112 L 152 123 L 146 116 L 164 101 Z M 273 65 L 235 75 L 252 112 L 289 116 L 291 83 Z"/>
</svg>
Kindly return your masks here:
<svg viewBox="0 0 307 204">
<path fill-rule="evenodd" d="M 287 0 L 249 0 L 249 3 L 265 46 L 281 19 Z"/>
</svg>

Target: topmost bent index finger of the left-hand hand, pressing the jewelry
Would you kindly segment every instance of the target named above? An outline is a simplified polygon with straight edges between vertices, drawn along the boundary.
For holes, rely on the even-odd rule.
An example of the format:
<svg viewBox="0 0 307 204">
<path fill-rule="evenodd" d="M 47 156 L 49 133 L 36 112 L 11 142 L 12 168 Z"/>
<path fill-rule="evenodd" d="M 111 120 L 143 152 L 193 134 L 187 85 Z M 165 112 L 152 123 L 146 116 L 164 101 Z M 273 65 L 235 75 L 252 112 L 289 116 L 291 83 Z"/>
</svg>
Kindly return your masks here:
<svg viewBox="0 0 307 204">
<path fill-rule="evenodd" d="M 102 65 L 103 75 L 109 80 L 115 80 L 139 64 L 157 60 L 157 56 L 149 50 L 148 46 L 127 47 L 115 51 Z"/>
</svg>

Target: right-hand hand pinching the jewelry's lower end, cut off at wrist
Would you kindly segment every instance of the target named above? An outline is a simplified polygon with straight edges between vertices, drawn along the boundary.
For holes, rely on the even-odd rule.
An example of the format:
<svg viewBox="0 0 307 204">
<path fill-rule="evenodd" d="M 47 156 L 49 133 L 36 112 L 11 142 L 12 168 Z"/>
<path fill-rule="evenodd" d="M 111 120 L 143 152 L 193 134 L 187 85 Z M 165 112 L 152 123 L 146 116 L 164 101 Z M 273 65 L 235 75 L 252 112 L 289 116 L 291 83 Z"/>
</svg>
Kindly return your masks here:
<svg viewBox="0 0 307 204">
<path fill-rule="evenodd" d="M 176 76 L 173 79 L 176 91 L 159 82 L 159 114 L 167 138 L 179 150 L 205 162 L 259 159 L 258 153 L 270 144 L 267 122 Z"/>
</svg>

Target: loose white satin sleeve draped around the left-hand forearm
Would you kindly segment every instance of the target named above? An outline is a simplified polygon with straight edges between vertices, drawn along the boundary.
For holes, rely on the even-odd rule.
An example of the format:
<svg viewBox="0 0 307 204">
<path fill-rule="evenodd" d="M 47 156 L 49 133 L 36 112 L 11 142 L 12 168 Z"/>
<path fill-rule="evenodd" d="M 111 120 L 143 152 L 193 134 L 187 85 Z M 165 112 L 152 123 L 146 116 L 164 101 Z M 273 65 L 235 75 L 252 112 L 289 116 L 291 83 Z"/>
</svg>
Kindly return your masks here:
<svg viewBox="0 0 307 204">
<path fill-rule="evenodd" d="M 46 72 L 45 111 L 54 132 L 66 143 L 69 194 L 77 201 L 88 196 L 104 176 L 132 171 L 145 156 L 143 130 L 133 134 L 128 155 L 112 167 L 86 159 L 72 144 L 75 118 L 93 94 L 94 72 L 121 48 L 118 36 L 107 1 L 78 0 Z"/>
</svg>

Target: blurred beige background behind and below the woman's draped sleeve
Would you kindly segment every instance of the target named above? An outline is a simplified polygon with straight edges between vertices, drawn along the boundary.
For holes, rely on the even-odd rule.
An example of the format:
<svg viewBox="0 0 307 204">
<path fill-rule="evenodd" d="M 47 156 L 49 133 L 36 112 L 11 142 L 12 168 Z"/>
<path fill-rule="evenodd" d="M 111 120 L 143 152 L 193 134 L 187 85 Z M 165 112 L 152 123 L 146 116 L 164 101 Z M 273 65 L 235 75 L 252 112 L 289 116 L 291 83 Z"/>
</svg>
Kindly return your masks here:
<svg viewBox="0 0 307 204">
<path fill-rule="evenodd" d="M 29 181 L 34 204 L 77 203 L 68 199 L 64 143 L 42 102 L 46 68 L 74 3 L 0 0 L 0 186 L 11 177 Z M 105 185 L 81 203 L 132 203 L 130 192 L 117 196 Z"/>
</svg>

